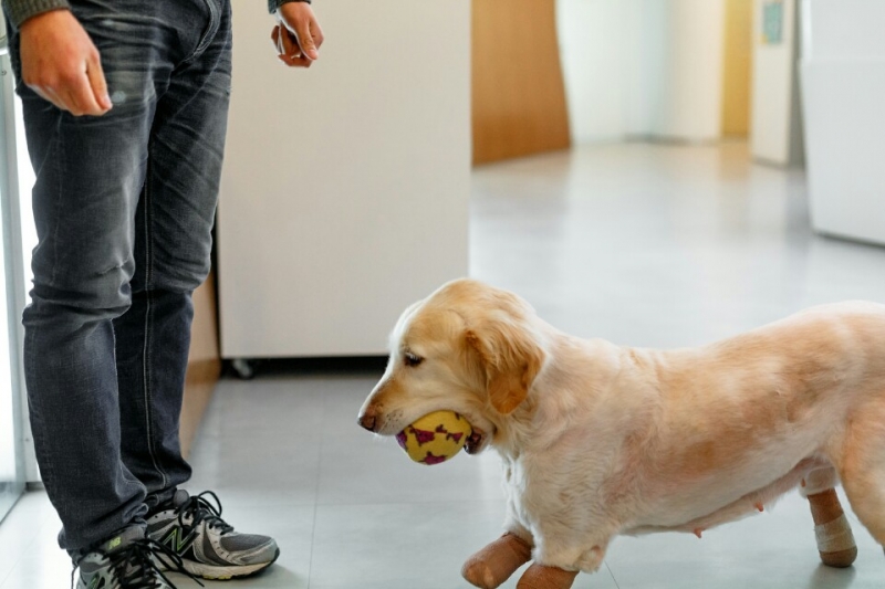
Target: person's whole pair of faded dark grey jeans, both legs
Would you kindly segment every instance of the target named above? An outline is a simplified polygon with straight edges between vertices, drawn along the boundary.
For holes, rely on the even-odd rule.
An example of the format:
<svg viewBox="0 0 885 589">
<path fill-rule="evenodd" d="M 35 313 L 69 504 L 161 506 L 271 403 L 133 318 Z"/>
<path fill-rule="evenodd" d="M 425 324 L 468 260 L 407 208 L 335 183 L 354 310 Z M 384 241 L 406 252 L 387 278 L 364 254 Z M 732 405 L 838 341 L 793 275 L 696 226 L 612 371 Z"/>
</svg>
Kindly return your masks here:
<svg viewBox="0 0 885 589">
<path fill-rule="evenodd" d="M 187 481 L 178 420 L 210 266 L 230 95 L 229 0 L 72 0 L 113 109 L 74 117 L 23 86 L 39 244 L 24 312 L 38 463 L 81 550 Z"/>
</svg>

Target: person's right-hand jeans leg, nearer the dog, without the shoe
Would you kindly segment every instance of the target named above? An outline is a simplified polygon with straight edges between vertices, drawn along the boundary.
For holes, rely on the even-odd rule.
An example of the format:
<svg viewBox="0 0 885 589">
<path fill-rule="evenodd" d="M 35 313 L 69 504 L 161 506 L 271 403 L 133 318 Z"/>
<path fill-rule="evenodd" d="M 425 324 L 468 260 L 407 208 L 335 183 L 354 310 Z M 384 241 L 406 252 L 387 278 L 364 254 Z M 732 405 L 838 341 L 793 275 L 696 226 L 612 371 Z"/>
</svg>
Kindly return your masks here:
<svg viewBox="0 0 885 589">
<path fill-rule="evenodd" d="M 190 477 L 181 456 L 191 293 L 208 275 L 230 96 L 227 1 L 191 0 L 201 35 L 157 102 L 135 220 L 133 303 L 114 322 L 123 461 L 150 508 Z"/>
</svg>

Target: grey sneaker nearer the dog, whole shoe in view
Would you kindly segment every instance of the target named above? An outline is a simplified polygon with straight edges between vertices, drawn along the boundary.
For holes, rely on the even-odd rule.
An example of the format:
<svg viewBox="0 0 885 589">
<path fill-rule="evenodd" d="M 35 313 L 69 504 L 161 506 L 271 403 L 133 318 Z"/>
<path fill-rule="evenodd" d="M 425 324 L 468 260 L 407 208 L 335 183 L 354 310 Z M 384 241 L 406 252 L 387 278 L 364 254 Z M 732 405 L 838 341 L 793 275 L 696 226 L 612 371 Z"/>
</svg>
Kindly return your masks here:
<svg viewBox="0 0 885 589">
<path fill-rule="evenodd" d="M 205 497 L 211 496 L 215 505 Z M 254 575 L 273 564 L 280 549 L 273 538 L 238 534 L 221 519 L 221 502 L 211 491 L 189 496 L 178 490 L 147 517 L 147 535 L 175 553 L 185 570 L 204 579 Z M 167 566 L 160 559 L 160 567 Z"/>
</svg>

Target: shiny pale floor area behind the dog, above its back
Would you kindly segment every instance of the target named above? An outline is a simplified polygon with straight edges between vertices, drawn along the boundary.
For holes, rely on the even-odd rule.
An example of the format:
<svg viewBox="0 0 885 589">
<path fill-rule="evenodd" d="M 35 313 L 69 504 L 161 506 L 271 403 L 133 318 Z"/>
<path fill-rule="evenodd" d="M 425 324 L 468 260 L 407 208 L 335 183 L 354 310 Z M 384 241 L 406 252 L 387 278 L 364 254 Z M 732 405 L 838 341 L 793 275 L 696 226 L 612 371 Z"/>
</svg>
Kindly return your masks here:
<svg viewBox="0 0 885 589">
<path fill-rule="evenodd" d="M 626 144 L 478 168 L 470 273 L 584 337 L 699 345 L 845 298 L 882 301 L 885 249 L 815 235 L 801 170 Z"/>
</svg>

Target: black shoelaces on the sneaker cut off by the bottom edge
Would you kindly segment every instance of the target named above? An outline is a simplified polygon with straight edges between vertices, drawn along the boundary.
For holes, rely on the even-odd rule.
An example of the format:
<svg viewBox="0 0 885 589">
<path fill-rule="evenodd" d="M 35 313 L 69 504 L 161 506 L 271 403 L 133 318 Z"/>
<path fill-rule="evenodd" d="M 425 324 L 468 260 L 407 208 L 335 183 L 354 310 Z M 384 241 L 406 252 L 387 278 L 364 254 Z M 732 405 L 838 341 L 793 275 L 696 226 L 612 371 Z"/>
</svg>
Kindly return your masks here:
<svg viewBox="0 0 885 589">
<path fill-rule="evenodd" d="M 111 561 L 113 578 L 126 589 L 156 589 L 157 575 L 169 587 L 174 588 L 175 583 L 157 567 L 154 558 L 163 559 L 169 570 L 181 572 L 197 581 L 200 587 L 204 587 L 199 579 L 185 569 L 181 557 L 150 538 L 136 540 L 122 550 L 107 556 Z M 76 567 L 71 571 L 71 589 L 74 587 L 75 570 Z"/>
</svg>

